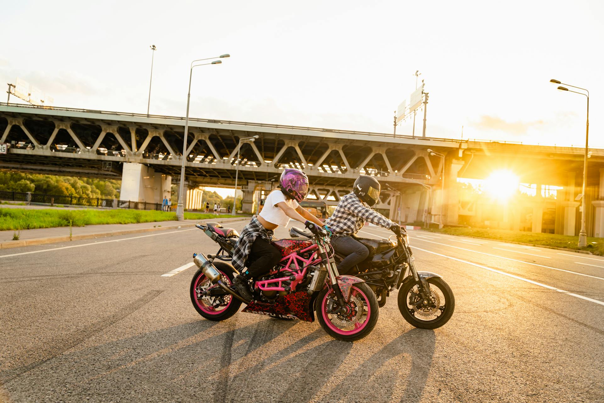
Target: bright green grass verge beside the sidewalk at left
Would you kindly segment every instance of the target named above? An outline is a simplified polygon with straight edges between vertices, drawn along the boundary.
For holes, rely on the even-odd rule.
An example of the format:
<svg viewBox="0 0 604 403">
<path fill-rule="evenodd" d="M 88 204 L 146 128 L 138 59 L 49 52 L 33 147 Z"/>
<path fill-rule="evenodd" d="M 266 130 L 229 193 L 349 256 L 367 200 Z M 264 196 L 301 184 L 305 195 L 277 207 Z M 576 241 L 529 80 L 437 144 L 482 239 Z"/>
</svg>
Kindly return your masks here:
<svg viewBox="0 0 604 403">
<path fill-rule="evenodd" d="M 242 217 L 220 215 L 219 218 Z M 185 219 L 211 220 L 214 214 L 185 213 Z M 146 210 L 25 210 L 0 208 L 0 231 L 31 230 L 33 228 L 83 227 L 97 224 L 132 224 L 135 222 L 174 221 L 176 213 Z"/>
</svg>

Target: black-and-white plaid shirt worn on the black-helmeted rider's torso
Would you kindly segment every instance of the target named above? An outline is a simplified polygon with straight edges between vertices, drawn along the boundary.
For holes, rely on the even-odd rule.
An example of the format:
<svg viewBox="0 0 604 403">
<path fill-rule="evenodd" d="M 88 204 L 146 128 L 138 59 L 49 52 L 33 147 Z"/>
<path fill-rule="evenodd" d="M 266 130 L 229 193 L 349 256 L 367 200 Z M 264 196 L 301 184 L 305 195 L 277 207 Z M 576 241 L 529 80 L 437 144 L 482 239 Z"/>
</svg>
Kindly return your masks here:
<svg viewBox="0 0 604 403">
<path fill-rule="evenodd" d="M 396 225 L 368 207 L 352 192 L 341 199 L 332 216 L 325 221 L 325 225 L 329 227 L 334 236 L 347 236 L 356 234 L 363 227 L 365 221 L 388 229 Z"/>
</svg>

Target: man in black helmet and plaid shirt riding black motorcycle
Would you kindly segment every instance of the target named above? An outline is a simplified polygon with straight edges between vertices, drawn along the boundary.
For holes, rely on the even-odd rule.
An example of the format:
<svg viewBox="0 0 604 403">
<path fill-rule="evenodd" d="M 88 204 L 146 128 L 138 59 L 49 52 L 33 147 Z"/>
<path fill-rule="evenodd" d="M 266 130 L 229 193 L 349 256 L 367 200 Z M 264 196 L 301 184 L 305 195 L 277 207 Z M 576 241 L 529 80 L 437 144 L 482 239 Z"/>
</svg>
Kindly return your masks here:
<svg viewBox="0 0 604 403">
<path fill-rule="evenodd" d="M 373 176 L 359 176 L 352 192 L 340 200 L 332 216 L 325 222 L 325 226 L 333 234 L 333 248 L 339 254 L 346 255 L 338 264 L 339 274 L 346 274 L 369 255 L 367 247 L 352 237 L 363 227 L 365 221 L 388 228 L 397 235 L 402 231 L 400 225 L 370 208 L 376 204 L 380 189 L 379 182 Z"/>
</svg>

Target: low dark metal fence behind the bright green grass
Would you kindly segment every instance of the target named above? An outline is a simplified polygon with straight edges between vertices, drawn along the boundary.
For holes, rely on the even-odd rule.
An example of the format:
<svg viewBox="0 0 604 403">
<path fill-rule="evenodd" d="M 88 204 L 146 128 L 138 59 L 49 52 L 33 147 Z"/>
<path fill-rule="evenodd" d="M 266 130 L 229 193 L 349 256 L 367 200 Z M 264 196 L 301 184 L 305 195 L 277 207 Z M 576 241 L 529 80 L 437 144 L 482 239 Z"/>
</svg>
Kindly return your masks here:
<svg viewBox="0 0 604 403">
<path fill-rule="evenodd" d="M 88 205 L 91 207 L 113 207 L 114 199 L 84 198 L 80 196 L 45 195 L 43 193 L 7 192 L 0 190 L 0 200 L 11 200 L 31 203 Z M 133 202 L 118 200 L 118 208 L 135 210 L 161 210 L 161 203 Z"/>
</svg>

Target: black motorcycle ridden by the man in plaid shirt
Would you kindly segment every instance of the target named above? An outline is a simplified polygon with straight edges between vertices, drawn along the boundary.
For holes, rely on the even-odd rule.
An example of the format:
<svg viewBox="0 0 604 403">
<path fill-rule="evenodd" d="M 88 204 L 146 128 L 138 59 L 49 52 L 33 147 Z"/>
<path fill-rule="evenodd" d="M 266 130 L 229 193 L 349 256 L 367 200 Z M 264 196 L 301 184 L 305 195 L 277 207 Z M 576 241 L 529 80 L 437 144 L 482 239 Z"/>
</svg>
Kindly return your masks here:
<svg viewBox="0 0 604 403">
<path fill-rule="evenodd" d="M 369 256 L 346 274 L 365 280 L 375 292 L 380 307 L 386 304 L 390 292 L 399 289 L 398 303 L 403 318 L 415 327 L 436 329 L 453 315 L 455 297 L 439 274 L 417 271 L 408 234 L 401 229 L 396 241 L 353 236 L 367 247 Z M 296 227 L 291 228 L 289 234 L 312 236 L 309 231 Z M 344 257 L 337 251 L 334 256 L 336 263 Z"/>
</svg>

